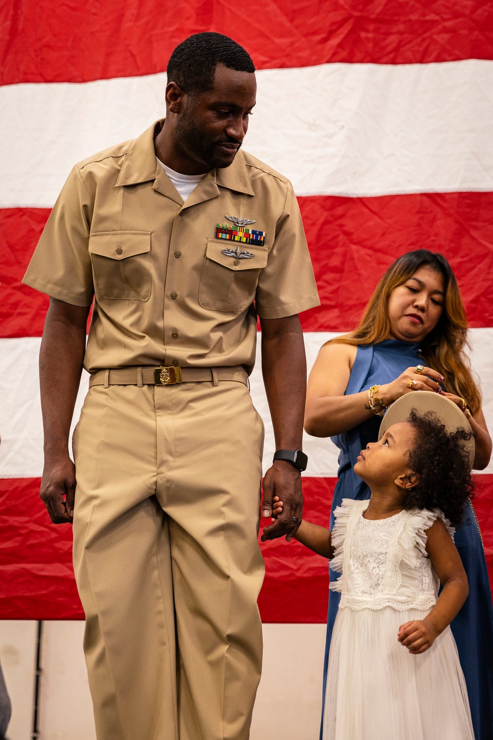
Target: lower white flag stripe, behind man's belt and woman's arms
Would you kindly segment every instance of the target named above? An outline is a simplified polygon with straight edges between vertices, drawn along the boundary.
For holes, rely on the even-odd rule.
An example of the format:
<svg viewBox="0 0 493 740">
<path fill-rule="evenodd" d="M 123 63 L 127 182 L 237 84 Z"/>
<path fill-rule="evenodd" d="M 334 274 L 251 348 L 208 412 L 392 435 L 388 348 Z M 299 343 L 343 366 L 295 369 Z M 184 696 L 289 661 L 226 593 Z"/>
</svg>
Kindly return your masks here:
<svg viewBox="0 0 493 740">
<path fill-rule="evenodd" d="M 306 332 L 305 347 L 310 371 L 324 342 L 336 334 Z M 483 387 L 483 410 L 489 428 L 493 428 L 493 329 L 471 329 L 472 366 Z M 254 372 L 251 375 L 251 395 L 265 424 L 264 471 L 271 465 L 275 450 L 273 428 L 260 370 L 260 335 Z M 41 476 L 43 468 L 43 428 L 38 383 L 38 353 L 41 339 L 24 337 L 0 340 L 0 478 L 31 478 Z M 86 394 L 88 374 L 84 372 L 75 406 L 74 421 L 81 411 Z M 305 475 L 334 477 L 337 474 L 339 450 L 330 440 L 304 436 L 303 448 L 309 457 Z M 485 473 L 493 473 L 493 461 Z"/>
</svg>

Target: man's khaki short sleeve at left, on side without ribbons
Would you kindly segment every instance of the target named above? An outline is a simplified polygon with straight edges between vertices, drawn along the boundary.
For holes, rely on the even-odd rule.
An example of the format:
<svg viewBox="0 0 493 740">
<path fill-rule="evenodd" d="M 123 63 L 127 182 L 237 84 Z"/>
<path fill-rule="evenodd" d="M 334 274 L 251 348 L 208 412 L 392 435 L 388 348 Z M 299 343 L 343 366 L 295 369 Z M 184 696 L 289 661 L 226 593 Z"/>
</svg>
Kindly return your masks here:
<svg viewBox="0 0 493 740">
<path fill-rule="evenodd" d="M 22 282 L 66 303 L 90 306 L 94 295 L 88 249 L 91 219 L 92 201 L 74 167 Z"/>
</svg>

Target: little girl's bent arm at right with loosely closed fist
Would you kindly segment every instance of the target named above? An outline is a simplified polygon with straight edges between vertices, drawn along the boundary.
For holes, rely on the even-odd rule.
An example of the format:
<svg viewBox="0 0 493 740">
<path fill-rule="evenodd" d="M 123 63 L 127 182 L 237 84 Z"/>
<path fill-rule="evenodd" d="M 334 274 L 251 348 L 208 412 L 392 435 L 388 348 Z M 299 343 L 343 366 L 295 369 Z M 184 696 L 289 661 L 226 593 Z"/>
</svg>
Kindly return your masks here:
<svg viewBox="0 0 493 740">
<path fill-rule="evenodd" d="M 424 619 L 406 622 L 398 631 L 398 640 L 409 653 L 424 653 L 448 627 L 467 599 L 469 585 L 457 548 L 446 527 L 437 519 L 426 532 L 426 552 L 443 585 L 438 601 Z"/>
</svg>

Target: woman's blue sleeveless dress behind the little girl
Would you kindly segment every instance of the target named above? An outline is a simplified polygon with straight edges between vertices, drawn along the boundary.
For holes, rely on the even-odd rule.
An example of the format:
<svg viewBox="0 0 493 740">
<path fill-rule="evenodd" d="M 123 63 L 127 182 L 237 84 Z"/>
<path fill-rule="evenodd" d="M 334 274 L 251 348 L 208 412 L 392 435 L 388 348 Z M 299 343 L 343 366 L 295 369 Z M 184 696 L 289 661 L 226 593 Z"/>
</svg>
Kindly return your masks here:
<svg viewBox="0 0 493 740">
<path fill-rule="evenodd" d="M 419 345 L 386 340 L 373 346 L 359 346 L 356 360 L 347 385 L 346 395 L 366 391 L 371 386 L 391 383 L 408 367 L 421 363 Z M 339 454 L 338 481 L 334 491 L 333 511 L 342 499 L 369 499 L 370 488 L 353 471 L 356 458 L 369 442 L 378 439 L 381 419 L 372 417 L 344 434 L 332 437 L 341 450 Z M 476 740 L 493 740 L 493 607 L 483 541 L 474 508 L 468 505 L 460 527 L 455 533 L 455 545 L 466 569 L 469 596 L 452 622 L 452 633 L 457 643 L 460 665 L 466 679 L 471 707 L 472 724 Z M 338 575 L 329 571 L 330 580 Z M 324 659 L 324 689 L 327 680 L 327 663 L 330 638 L 337 609 L 339 593 L 330 591 L 327 614 L 327 638 Z M 322 704 L 322 719 L 324 707 Z M 320 730 L 322 740 L 322 726 Z"/>
</svg>

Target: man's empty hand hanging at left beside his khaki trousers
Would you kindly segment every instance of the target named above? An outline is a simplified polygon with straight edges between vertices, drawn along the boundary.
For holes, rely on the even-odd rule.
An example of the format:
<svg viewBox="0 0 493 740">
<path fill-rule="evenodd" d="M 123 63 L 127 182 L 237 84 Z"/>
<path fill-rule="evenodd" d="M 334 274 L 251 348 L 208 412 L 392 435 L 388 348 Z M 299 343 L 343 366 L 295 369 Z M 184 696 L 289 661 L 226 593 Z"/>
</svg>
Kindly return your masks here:
<svg viewBox="0 0 493 740">
<path fill-rule="evenodd" d="M 45 461 L 41 499 L 53 524 L 72 524 L 75 501 L 75 465 L 66 457 Z"/>
</svg>

